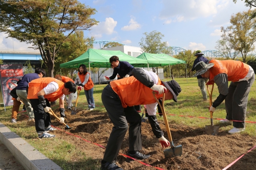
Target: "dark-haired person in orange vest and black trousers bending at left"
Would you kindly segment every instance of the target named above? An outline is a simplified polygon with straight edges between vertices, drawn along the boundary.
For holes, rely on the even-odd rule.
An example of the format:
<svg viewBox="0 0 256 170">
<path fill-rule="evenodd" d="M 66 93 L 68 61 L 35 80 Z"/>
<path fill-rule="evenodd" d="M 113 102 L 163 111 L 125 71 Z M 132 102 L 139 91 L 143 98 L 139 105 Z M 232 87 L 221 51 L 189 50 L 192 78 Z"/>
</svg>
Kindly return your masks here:
<svg viewBox="0 0 256 170">
<path fill-rule="evenodd" d="M 51 138 L 55 135 L 51 135 L 48 132 L 56 130 L 51 127 L 50 118 L 50 102 L 59 98 L 59 123 L 64 123 L 65 109 L 64 109 L 64 97 L 71 93 L 76 92 L 76 84 L 68 81 L 63 83 L 56 78 L 38 78 L 28 83 L 27 93 L 31 106 L 34 110 L 35 125 L 38 137 Z"/>
</svg>

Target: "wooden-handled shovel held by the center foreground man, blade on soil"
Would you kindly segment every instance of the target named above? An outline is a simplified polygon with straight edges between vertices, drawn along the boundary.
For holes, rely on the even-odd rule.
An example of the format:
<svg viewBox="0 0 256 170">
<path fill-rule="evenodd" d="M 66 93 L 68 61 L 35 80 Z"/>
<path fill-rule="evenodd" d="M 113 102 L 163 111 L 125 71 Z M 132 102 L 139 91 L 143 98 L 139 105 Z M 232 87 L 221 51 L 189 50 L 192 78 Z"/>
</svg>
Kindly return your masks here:
<svg viewBox="0 0 256 170">
<path fill-rule="evenodd" d="M 154 92 L 153 92 L 153 94 L 154 94 Z M 155 94 L 154 94 L 154 97 L 156 99 Z M 158 101 L 158 99 L 156 99 L 156 102 L 158 102 L 158 104 L 161 108 L 161 111 L 162 111 L 162 114 L 163 114 L 163 117 L 164 117 L 164 123 L 165 123 L 165 126 L 166 126 L 166 131 L 167 131 L 167 134 L 168 134 L 168 138 L 169 138 L 169 141 L 171 142 L 171 148 L 164 150 L 164 156 L 165 156 L 165 158 L 174 157 L 174 156 L 181 156 L 182 155 L 182 145 L 179 145 L 179 146 L 174 146 L 173 145 L 173 139 L 171 137 L 170 127 L 169 127 L 168 120 L 167 120 L 167 117 L 166 117 L 166 113 L 165 113 L 165 110 L 164 110 L 164 97 L 165 97 L 165 94 L 163 95 L 162 106 L 161 106 L 160 102 Z"/>
</svg>

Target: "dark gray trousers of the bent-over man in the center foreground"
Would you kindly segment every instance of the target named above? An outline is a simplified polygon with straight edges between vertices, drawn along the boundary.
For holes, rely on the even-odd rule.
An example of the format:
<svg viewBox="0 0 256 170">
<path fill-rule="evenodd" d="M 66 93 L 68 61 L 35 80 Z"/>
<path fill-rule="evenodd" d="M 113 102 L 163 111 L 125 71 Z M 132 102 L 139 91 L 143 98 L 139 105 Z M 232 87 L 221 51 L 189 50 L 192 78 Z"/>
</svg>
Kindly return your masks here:
<svg viewBox="0 0 256 170">
<path fill-rule="evenodd" d="M 128 130 L 128 123 L 129 151 L 139 151 L 142 149 L 141 116 L 134 106 L 123 108 L 119 96 L 112 90 L 110 85 L 103 89 L 101 99 L 114 125 L 103 157 L 104 161 L 112 163 L 116 161 L 119 154 L 123 139 Z"/>
</svg>

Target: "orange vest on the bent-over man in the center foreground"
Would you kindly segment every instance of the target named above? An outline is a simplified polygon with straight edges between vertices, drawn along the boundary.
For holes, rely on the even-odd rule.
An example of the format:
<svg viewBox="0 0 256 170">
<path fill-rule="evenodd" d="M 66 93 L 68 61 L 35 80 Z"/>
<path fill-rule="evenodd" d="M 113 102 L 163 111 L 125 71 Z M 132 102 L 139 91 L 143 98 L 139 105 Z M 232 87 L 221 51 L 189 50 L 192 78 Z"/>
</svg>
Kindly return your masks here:
<svg viewBox="0 0 256 170">
<path fill-rule="evenodd" d="M 157 84 L 163 85 L 159 78 Z M 119 95 L 123 108 L 140 104 L 153 104 L 156 102 L 156 99 L 163 97 L 163 94 L 155 94 L 155 99 L 152 94 L 153 90 L 140 83 L 133 76 L 111 81 L 110 85 L 114 92 Z"/>
</svg>

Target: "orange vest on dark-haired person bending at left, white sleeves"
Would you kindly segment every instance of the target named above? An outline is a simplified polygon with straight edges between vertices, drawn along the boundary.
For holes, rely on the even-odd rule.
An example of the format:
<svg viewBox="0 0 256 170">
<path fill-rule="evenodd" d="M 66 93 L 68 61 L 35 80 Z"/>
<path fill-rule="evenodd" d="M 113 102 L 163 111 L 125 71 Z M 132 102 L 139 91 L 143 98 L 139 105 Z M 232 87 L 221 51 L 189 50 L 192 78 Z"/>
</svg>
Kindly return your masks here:
<svg viewBox="0 0 256 170">
<path fill-rule="evenodd" d="M 38 99 L 37 93 L 45 88 L 49 83 L 56 82 L 59 85 L 57 91 L 44 95 L 45 99 L 48 99 L 49 102 L 54 102 L 59 97 L 63 95 L 62 89 L 64 88 L 64 83 L 56 78 L 45 77 L 45 78 L 37 78 L 28 83 L 28 97 L 27 99 Z"/>
</svg>

